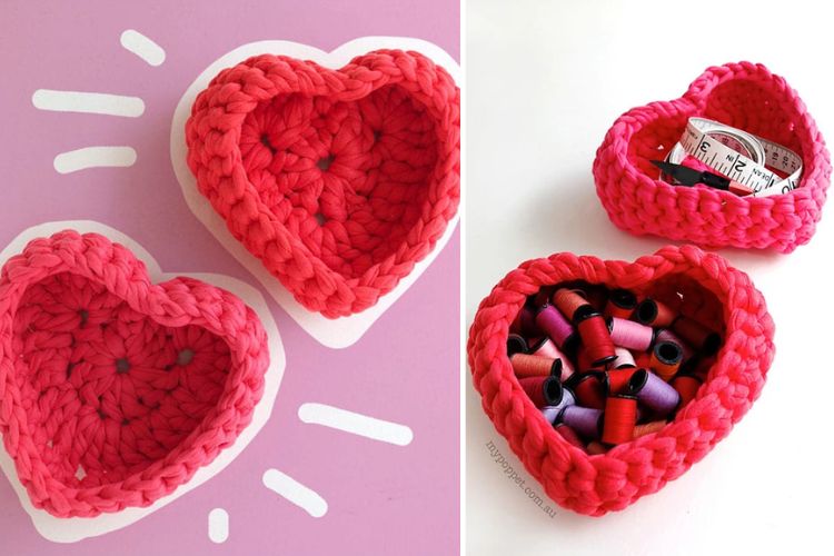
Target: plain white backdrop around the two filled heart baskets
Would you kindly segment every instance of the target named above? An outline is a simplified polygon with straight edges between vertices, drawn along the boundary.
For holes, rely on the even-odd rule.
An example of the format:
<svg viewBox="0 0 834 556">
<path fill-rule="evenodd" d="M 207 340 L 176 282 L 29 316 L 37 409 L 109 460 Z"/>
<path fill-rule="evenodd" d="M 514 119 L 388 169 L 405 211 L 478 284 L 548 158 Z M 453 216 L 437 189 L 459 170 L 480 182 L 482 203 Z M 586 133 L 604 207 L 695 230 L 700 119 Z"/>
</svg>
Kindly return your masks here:
<svg viewBox="0 0 834 556">
<path fill-rule="evenodd" d="M 679 97 L 708 66 L 762 62 L 834 141 L 834 30 L 825 2 L 469 0 L 466 19 L 466 322 L 507 271 L 557 251 L 632 260 L 666 241 L 617 230 L 590 167 L 613 121 Z M 762 397 L 702 463 L 624 512 L 550 518 L 490 459 L 523 469 L 466 379 L 473 555 L 834 554 L 834 207 L 794 254 L 721 254 L 776 322 Z M 546 497 L 545 497 L 546 498 Z M 546 498 L 546 503 L 549 502 Z"/>
</svg>

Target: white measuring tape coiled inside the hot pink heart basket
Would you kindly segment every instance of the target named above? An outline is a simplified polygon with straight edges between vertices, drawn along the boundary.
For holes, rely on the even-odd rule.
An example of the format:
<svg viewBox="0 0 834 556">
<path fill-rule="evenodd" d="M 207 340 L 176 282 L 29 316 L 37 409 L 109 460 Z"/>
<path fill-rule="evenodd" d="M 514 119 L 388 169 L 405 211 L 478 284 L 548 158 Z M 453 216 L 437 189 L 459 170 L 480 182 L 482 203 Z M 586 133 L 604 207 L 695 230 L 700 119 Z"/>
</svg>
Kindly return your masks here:
<svg viewBox="0 0 834 556">
<path fill-rule="evenodd" d="M 747 186 L 755 197 L 793 191 L 802 175 L 802 158 L 791 149 L 706 118 L 689 118 L 666 161 L 679 165 L 687 155 Z M 768 167 L 786 173 L 787 178 L 781 178 Z"/>
</svg>

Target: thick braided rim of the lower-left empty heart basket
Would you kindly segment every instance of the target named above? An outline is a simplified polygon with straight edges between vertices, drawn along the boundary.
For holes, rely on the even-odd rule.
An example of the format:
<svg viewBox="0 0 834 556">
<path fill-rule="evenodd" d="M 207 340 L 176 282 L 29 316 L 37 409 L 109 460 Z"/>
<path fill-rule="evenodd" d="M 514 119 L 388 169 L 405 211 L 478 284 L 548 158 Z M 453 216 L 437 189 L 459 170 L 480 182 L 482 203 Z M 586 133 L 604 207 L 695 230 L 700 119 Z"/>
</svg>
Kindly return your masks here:
<svg viewBox="0 0 834 556">
<path fill-rule="evenodd" d="M 108 257 L 117 264 L 108 264 Z M 22 395 L 14 381 L 12 360 L 17 354 L 12 338 L 19 304 L 29 288 L 63 274 L 102 285 L 109 295 L 158 325 L 199 326 L 229 349 L 230 368 L 215 408 L 163 458 L 121 480 L 99 486 L 73 487 L 52 475 L 33 440 L 32 431 L 37 429 L 30 427 L 29 415 L 19 405 Z M 212 300 L 209 294 L 215 292 L 219 299 Z M 261 398 L 269 355 L 266 331 L 255 311 L 235 295 L 193 278 L 176 277 L 152 284 L 141 260 L 125 246 L 98 234 L 64 230 L 31 240 L 3 265 L 0 302 L 4 310 L 0 319 L 0 378 L 4 378 L 0 381 L 0 431 L 33 506 L 56 517 L 96 517 L 128 507 L 146 507 L 167 496 L 234 444 L 251 421 Z M 228 318 L 218 319 L 212 310 L 222 310 Z"/>
</svg>

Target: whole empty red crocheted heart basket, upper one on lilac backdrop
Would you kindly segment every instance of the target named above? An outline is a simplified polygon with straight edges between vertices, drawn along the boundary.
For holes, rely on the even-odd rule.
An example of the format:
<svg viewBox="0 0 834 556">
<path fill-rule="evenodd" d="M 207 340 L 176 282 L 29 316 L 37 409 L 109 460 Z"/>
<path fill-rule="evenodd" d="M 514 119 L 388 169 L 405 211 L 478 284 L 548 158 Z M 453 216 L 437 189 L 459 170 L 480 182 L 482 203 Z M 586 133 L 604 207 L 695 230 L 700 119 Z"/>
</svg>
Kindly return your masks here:
<svg viewBox="0 0 834 556">
<path fill-rule="evenodd" d="M 186 141 L 235 238 L 329 318 L 376 304 L 457 211 L 460 91 L 416 52 L 250 58 L 197 97 Z"/>
</svg>

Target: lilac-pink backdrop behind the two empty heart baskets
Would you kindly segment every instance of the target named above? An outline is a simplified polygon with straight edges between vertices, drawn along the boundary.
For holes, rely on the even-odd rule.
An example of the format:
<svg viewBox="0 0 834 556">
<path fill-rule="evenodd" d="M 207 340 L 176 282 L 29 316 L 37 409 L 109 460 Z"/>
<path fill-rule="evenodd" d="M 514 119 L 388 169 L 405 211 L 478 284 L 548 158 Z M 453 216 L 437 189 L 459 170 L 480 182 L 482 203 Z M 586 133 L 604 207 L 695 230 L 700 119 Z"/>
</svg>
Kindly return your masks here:
<svg viewBox="0 0 834 556">
<path fill-rule="evenodd" d="M 330 50 L 350 39 L 409 36 L 459 58 L 457 0 L 217 0 L 33 2 L 0 7 L 0 245 L 49 220 L 95 219 L 145 246 L 166 271 L 214 271 L 258 282 L 186 207 L 169 160 L 169 126 L 186 87 L 212 60 L 256 40 Z M 136 29 L 167 52 L 152 68 L 122 49 Z M 142 98 L 141 118 L 39 111 L 38 88 Z M 129 169 L 60 176 L 61 151 L 129 145 Z M 355 346 L 331 350 L 270 308 L 287 370 L 270 421 L 214 479 L 125 529 L 75 545 L 34 530 L 0 479 L 0 553 L 97 554 L 453 554 L 458 550 L 459 235 Z M 411 427 L 396 447 L 297 418 L 305 401 L 329 403 Z M 328 514 L 314 519 L 267 490 L 268 467 L 318 492 Z M 208 539 L 208 512 L 230 515 L 224 545 Z"/>
</svg>

